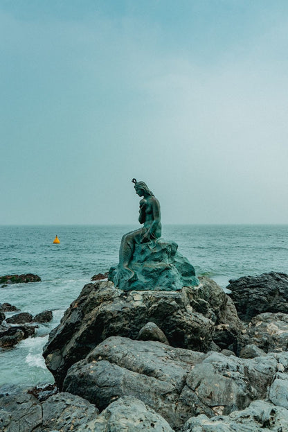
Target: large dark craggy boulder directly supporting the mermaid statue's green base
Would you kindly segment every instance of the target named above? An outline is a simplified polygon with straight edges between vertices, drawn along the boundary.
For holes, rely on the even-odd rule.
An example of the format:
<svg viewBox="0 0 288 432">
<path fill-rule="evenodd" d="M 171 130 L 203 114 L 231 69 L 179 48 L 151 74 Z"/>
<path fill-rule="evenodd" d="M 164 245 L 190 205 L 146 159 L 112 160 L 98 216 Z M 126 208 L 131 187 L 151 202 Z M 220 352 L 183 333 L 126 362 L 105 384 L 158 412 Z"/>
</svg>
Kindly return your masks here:
<svg viewBox="0 0 288 432">
<path fill-rule="evenodd" d="M 109 336 L 136 339 L 147 322 L 161 328 L 170 345 L 206 352 L 215 325 L 224 322 L 235 338 L 242 328 L 237 313 L 232 318 L 227 299 L 222 288 L 206 277 L 200 278 L 199 286 L 169 292 L 123 292 L 111 282 L 87 284 L 51 331 L 44 347 L 46 365 L 61 388 L 70 366 L 98 343 Z M 195 310 L 200 300 L 206 302 L 206 316 Z"/>
</svg>

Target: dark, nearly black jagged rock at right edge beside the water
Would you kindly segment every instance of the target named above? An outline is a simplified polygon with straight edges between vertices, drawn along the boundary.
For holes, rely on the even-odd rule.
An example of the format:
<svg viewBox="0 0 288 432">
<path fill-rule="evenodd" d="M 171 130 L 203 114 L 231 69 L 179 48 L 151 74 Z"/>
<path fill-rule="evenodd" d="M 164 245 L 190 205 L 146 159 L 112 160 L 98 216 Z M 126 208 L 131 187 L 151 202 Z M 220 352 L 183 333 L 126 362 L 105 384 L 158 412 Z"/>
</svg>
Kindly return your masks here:
<svg viewBox="0 0 288 432">
<path fill-rule="evenodd" d="M 263 273 L 229 282 L 229 295 L 241 320 L 250 321 L 264 312 L 288 313 L 288 275 L 285 273 Z"/>
</svg>

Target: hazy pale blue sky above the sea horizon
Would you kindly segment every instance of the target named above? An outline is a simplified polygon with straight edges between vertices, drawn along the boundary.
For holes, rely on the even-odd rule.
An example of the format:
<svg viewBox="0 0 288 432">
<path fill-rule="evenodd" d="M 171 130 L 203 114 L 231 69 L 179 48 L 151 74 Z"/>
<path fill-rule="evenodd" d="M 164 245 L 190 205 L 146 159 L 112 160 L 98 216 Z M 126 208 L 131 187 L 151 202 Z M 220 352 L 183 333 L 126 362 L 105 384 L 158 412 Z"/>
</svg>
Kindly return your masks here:
<svg viewBox="0 0 288 432">
<path fill-rule="evenodd" d="M 288 1 L 0 0 L 0 224 L 288 223 Z"/>
</svg>

